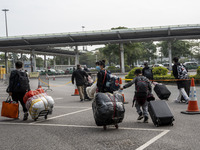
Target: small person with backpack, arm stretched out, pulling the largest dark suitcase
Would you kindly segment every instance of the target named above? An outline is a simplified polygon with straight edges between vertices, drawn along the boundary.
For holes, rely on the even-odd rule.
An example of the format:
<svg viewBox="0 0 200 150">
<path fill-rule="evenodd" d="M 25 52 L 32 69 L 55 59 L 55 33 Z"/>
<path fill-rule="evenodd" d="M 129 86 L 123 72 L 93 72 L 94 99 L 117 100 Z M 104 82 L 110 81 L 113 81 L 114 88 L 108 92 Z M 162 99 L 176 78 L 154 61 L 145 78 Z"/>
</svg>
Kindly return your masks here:
<svg viewBox="0 0 200 150">
<path fill-rule="evenodd" d="M 136 107 L 137 113 L 139 115 L 137 120 L 141 120 L 144 118 L 143 122 L 148 123 L 147 97 L 152 92 L 151 83 L 150 83 L 149 79 L 142 76 L 142 71 L 140 69 L 136 69 L 134 74 L 136 75 L 136 77 L 131 82 L 127 83 L 120 89 L 121 90 L 126 89 L 135 83 L 135 95 L 133 98 L 133 105 L 134 105 L 134 102 L 136 101 L 135 107 Z M 141 110 L 141 107 L 142 107 L 143 111 Z"/>
</svg>

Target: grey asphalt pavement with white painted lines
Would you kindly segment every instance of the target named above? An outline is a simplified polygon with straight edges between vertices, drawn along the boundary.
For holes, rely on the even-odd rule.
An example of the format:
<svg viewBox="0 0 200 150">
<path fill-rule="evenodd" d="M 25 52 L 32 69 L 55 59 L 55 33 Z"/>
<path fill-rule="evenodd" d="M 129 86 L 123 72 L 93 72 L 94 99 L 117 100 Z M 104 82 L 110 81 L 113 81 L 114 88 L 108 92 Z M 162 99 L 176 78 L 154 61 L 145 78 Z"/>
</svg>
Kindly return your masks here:
<svg viewBox="0 0 200 150">
<path fill-rule="evenodd" d="M 79 96 L 71 96 L 75 86 L 70 83 L 70 79 L 50 79 L 47 94 L 54 98 L 55 107 L 47 120 L 41 117 L 34 121 L 29 116 L 27 121 L 22 121 L 21 106 L 19 120 L 0 117 L 0 150 L 200 149 L 200 115 L 180 113 L 187 109 L 187 104 L 174 103 L 178 95 L 176 85 L 167 85 L 172 93 L 167 103 L 175 117 L 174 126 L 155 127 L 150 118 L 149 123 L 137 121 L 136 109 L 132 107 L 132 86 L 123 91 L 128 104 L 125 104 L 125 117 L 119 124 L 119 129 L 109 126 L 107 130 L 103 130 L 103 127 L 95 124 L 92 101 L 80 102 Z M 30 81 L 31 89 L 36 89 L 38 80 Z M 1 103 L 8 96 L 6 88 L 7 85 L 0 82 Z M 196 86 L 196 89 L 199 100 L 200 88 Z M 156 95 L 155 97 L 158 100 Z"/>
</svg>

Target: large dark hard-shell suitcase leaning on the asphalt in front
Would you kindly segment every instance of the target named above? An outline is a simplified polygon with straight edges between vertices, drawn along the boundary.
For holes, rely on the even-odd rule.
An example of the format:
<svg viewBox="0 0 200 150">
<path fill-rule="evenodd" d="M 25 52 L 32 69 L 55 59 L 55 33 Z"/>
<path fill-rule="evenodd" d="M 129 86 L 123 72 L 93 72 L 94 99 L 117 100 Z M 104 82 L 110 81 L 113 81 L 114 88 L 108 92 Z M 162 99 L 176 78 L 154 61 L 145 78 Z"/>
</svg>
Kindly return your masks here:
<svg viewBox="0 0 200 150">
<path fill-rule="evenodd" d="M 150 101 L 148 109 L 151 119 L 156 127 L 173 125 L 174 116 L 166 101 Z"/>
</svg>

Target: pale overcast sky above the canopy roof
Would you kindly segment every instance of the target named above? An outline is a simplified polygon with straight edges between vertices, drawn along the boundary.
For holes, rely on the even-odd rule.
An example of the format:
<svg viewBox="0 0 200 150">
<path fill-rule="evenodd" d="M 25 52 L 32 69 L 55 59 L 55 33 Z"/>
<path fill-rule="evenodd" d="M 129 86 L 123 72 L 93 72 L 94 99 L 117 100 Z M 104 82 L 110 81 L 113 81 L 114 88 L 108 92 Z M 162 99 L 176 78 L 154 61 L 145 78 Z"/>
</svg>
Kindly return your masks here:
<svg viewBox="0 0 200 150">
<path fill-rule="evenodd" d="M 199 24 L 199 6 L 199 0 L 0 0 L 0 9 L 9 9 L 9 36 Z"/>
</svg>

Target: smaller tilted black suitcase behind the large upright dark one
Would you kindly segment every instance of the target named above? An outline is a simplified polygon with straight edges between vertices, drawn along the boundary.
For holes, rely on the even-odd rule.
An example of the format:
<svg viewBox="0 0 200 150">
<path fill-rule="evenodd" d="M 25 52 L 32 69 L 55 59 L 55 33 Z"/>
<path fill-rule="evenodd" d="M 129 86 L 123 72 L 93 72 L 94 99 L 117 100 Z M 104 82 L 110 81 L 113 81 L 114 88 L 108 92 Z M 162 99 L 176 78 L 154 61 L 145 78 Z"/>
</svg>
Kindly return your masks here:
<svg viewBox="0 0 200 150">
<path fill-rule="evenodd" d="M 156 84 L 154 87 L 154 91 L 161 100 L 168 99 L 171 95 L 171 92 L 164 84 Z"/>
</svg>

